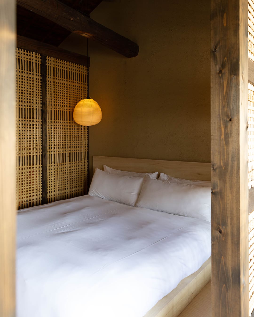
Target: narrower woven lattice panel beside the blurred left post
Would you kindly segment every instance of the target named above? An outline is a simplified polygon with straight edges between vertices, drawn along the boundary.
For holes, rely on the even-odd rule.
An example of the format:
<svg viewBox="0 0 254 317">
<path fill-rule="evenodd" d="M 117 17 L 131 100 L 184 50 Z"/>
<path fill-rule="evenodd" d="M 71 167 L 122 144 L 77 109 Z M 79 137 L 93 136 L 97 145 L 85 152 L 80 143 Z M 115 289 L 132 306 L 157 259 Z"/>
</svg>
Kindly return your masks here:
<svg viewBox="0 0 254 317">
<path fill-rule="evenodd" d="M 41 203 L 41 57 L 17 49 L 17 208 Z"/>
</svg>

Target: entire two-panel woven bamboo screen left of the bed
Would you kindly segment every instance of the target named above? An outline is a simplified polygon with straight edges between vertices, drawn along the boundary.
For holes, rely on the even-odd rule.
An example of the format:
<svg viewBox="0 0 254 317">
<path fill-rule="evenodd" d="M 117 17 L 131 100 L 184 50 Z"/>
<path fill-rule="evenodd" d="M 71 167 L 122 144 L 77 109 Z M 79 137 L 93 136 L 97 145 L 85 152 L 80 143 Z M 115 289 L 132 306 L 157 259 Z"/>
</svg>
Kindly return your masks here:
<svg viewBox="0 0 254 317">
<path fill-rule="evenodd" d="M 86 193 L 88 131 L 72 117 L 86 78 L 83 65 L 17 49 L 18 209 Z"/>
</svg>

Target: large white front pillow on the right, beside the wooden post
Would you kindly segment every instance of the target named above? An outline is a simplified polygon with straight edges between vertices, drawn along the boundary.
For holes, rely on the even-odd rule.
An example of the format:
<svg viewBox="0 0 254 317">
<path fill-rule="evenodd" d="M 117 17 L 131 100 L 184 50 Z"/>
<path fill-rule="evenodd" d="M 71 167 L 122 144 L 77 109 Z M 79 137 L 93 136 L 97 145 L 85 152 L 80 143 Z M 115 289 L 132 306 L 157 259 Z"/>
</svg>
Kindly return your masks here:
<svg viewBox="0 0 254 317">
<path fill-rule="evenodd" d="M 170 183 L 147 175 L 136 206 L 211 221 L 211 189 Z"/>
</svg>

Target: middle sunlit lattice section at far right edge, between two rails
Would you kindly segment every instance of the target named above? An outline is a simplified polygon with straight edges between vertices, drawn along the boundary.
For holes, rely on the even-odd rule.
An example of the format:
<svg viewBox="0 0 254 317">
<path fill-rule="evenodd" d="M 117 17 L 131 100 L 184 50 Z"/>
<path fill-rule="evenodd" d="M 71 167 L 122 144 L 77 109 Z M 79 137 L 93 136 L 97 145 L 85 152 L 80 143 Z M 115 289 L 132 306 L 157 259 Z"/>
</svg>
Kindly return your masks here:
<svg viewBox="0 0 254 317">
<path fill-rule="evenodd" d="M 249 189 L 254 187 L 254 86 L 248 84 L 248 159 L 249 159 Z"/>
</svg>

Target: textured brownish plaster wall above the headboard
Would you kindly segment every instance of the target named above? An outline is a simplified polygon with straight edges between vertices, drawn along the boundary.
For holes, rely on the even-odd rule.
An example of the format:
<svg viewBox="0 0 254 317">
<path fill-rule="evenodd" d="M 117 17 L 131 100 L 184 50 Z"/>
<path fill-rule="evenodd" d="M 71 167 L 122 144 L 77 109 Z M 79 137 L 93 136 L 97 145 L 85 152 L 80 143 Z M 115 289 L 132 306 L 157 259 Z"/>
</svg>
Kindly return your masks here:
<svg viewBox="0 0 254 317">
<path fill-rule="evenodd" d="M 137 42 L 128 59 L 90 41 L 93 155 L 210 162 L 210 0 L 103 1 L 97 22 Z M 62 47 L 84 53 L 72 34 Z"/>
</svg>

